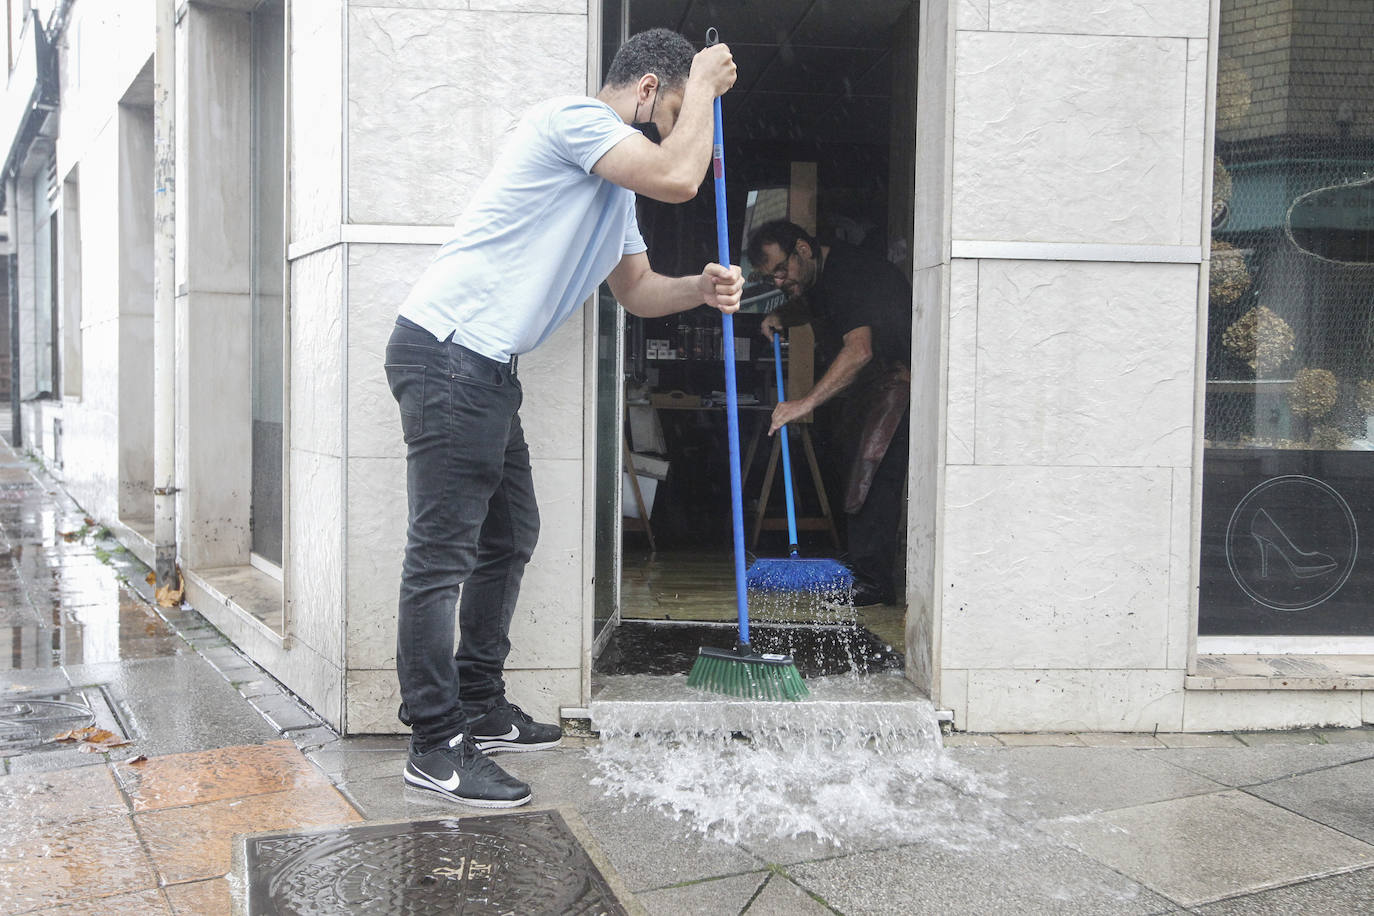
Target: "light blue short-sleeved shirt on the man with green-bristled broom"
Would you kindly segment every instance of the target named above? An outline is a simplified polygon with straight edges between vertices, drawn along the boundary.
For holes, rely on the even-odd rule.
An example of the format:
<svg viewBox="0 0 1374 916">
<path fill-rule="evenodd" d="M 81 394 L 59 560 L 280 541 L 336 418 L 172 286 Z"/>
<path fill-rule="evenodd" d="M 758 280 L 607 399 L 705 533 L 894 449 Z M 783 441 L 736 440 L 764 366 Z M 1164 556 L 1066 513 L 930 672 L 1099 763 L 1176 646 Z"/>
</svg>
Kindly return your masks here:
<svg viewBox="0 0 1374 916">
<path fill-rule="evenodd" d="M 627 254 L 649 246 L 635 192 L 591 173 L 635 129 L 610 106 L 550 99 L 519 122 L 401 314 L 493 360 L 528 353 Z"/>
</svg>

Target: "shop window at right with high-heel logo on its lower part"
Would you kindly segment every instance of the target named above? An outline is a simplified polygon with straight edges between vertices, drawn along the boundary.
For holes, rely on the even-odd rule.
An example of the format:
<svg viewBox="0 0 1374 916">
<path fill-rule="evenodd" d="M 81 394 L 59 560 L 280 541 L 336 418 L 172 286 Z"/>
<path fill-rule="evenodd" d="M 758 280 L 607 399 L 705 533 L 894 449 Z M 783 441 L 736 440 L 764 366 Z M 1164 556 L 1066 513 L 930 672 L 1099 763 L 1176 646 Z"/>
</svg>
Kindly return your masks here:
<svg viewBox="0 0 1374 916">
<path fill-rule="evenodd" d="M 1220 5 L 1198 634 L 1232 648 L 1374 636 L 1371 34 Z"/>
</svg>

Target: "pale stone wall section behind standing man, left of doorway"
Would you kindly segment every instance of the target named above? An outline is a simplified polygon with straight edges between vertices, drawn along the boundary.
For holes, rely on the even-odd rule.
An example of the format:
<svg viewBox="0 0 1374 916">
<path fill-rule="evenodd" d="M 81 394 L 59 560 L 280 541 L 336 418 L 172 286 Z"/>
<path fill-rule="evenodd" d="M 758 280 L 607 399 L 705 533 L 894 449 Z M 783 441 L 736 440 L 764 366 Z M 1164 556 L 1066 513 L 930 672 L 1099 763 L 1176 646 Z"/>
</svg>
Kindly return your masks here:
<svg viewBox="0 0 1374 916">
<path fill-rule="evenodd" d="M 344 328 L 346 371 L 331 379 L 339 386 L 344 442 L 330 461 L 337 461 L 348 494 L 346 720 L 357 732 L 400 728 L 394 643 L 405 449 L 382 372 L 397 308 L 528 102 L 587 91 L 585 1 L 466 5 L 354 1 L 346 15 L 341 235 L 354 240 L 339 246 L 346 250 L 342 310 L 319 320 Z M 515 702 L 541 717 L 585 700 L 583 618 L 589 608 L 569 582 L 581 582 L 584 567 L 587 320 L 574 316 L 519 361 L 541 534 L 511 628 L 507 681 Z M 312 339 L 316 331 L 302 330 Z"/>
</svg>

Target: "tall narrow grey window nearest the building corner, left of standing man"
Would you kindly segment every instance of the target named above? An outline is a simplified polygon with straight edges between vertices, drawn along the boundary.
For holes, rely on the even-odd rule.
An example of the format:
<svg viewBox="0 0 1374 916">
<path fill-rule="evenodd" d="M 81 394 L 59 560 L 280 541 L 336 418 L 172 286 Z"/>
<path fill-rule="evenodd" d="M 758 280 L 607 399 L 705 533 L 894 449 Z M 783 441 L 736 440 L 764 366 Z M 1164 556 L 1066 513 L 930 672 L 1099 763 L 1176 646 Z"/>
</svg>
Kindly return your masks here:
<svg viewBox="0 0 1374 916">
<path fill-rule="evenodd" d="M 282 566 L 286 27 L 282 0 L 253 11 L 253 555 Z"/>
</svg>

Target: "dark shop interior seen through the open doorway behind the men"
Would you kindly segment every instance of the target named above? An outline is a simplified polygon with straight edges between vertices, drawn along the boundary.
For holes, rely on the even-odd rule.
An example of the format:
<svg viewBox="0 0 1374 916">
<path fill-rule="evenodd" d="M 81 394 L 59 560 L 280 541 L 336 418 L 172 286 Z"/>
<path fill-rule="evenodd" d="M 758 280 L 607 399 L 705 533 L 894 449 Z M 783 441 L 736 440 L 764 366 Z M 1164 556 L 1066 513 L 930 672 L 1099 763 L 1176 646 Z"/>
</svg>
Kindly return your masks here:
<svg viewBox="0 0 1374 916">
<path fill-rule="evenodd" d="M 708 27 L 717 29 L 739 67 L 723 122 L 732 258 L 746 279 L 745 239 L 772 218 L 797 222 L 822 244 L 870 249 L 910 275 L 916 4 L 609 0 L 603 71 L 622 36 L 660 26 L 698 47 Z M 661 273 L 695 273 L 717 260 L 714 195 L 710 176 L 703 179 L 684 205 L 640 199 L 640 229 Z M 767 435 L 778 401 L 775 360 L 760 332 L 783 295 L 768 279 L 749 279 L 730 342 L 708 306 L 646 320 L 620 310 L 605 287 L 600 299 L 598 634 L 606 636 L 617 611 L 620 621 L 732 621 L 723 356 L 732 350 L 736 360 L 747 556 L 786 556 L 783 472 Z M 789 328 L 789 398 L 823 375 L 826 357 L 809 325 Z M 802 556 L 845 558 L 838 409 L 833 402 L 790 427 Z M 859 614 L 903 651 L 904 607 Z"/>
</svg>

